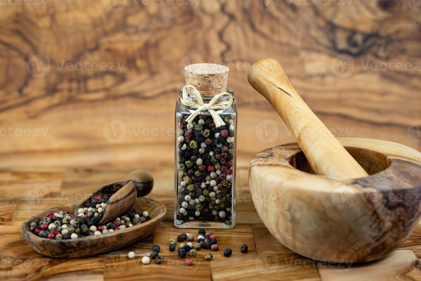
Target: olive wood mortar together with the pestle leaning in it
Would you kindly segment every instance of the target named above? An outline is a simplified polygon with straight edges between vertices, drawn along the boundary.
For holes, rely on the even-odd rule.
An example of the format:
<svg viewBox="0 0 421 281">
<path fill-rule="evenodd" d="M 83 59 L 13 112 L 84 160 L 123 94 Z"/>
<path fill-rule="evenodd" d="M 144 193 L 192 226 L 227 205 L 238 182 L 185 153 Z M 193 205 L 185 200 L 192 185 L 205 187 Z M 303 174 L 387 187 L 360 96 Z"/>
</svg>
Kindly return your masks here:
<svg viewBox="0 0 421 281">
<path fill-rule="evenodd" d="M 272 235 L 330 262 L 368 262 L 401 245 L 420 219 L 421 153 L 376 139 L 336 139 L 273 59 L 253 64 L 248 80 L 298 141 L 250 162 L 253 203 Z"/>
</svg>

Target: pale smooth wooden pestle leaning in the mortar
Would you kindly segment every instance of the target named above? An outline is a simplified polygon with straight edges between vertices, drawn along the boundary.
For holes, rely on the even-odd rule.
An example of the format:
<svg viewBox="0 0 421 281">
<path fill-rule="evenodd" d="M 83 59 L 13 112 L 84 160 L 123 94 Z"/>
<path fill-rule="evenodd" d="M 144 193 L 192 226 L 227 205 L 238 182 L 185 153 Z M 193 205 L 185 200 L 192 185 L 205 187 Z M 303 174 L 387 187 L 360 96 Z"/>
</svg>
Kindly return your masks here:
<svg viewBox="0 0 421 281">
<path fill-rule="evenodd" d="M 248 82 L 284 120 L 314 173 L 343 179 L 368 177 L 360 164 L 301 99 L 279 62 L 274 59 L 255 62 L 248 72 Z"/>
</svg>

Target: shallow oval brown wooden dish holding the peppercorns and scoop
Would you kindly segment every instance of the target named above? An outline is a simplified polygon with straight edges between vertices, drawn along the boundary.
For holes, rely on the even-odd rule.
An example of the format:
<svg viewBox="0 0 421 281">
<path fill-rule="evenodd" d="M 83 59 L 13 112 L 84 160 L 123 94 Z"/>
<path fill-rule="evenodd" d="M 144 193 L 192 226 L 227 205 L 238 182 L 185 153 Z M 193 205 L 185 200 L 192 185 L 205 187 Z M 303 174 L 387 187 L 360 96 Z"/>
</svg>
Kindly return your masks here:
<svg viewBox="0 0 421 281">
<path fill-rule="evenodd" d="M 165 217 L 167 208 L 160 201 L 150 198 L 137 198 L 134 209 L 147 211 L 152 218 L 147 222 L 127 227 L 106 235 L 87 236 L 77 239 L 54 240 L 41 238 L 29 227 L 37 218 L 43 218 L 48 212 L 74 210 L 77 204 L 68 204 L 42 211 L 27 219 L 21 226 L 21 233 L 28 244 L 37 253 L 56 258 L 80 258 L 115 251 L 137 243 L 151 235 Z"/>
</svg>

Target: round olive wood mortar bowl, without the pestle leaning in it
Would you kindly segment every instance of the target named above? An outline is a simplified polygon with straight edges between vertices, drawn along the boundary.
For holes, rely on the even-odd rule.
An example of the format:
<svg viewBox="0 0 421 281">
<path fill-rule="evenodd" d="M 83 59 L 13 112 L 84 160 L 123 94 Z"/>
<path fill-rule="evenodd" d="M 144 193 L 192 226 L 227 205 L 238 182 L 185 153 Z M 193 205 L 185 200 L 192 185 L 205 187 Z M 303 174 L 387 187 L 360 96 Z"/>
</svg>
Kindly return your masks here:
<svg viewBox="0 0 421 281">
<path fill-rule="evenodd" d="M 338 140 L 368 177 L 314 174 L 296 142 L 279 145 L 250 162 L 253 203 L 270 233 L 298 254 L 377 260 L 400 246 L 420 219 L 421 153 L 378 139 Z"/>
</svg>

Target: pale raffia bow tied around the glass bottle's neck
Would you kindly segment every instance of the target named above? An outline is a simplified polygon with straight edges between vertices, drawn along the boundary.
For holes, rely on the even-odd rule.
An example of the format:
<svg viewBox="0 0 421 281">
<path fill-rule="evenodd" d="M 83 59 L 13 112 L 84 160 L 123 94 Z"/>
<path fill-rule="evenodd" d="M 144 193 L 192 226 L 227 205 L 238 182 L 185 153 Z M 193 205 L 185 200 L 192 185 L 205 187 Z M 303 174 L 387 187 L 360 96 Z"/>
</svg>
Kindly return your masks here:
<svg viewBox="0 0 421 281">
<path fill-rule="evenodd" d="M 187 89 L 191 88 L 193 90 L 193 95 L 195 96 L 196 101 L 189 101 L 188 99 L 188 93 L 187 93 Z M 218 102 L 218 99 L 221 96 L 228 96 L 228 100 L 222 101 L 222 102 Z M 193 108 L 197 108 L 195 110 L 195 112 L 193 112 L 187 119 L 187 123 L 192 123 L 193 119 L 195 119 L 196 115 L 199 114 L 199 112 L 201 111 L 209 111 L 210 115 L 213 118 L 213 122 L 215 122 L 215 125 L 217 128 L 224 126 L 224 120 L 222 120 L 222 118 L 218 115 L 218 113 L 215 112 L 215 110 L 218 109 L 228 109 L 231 104 L 232 104 L 232 95 L 224 92 L 221 94 L 217 94 L 216 96 L 214 96 L 209 103 L 203 103 L 203 99 L 202 96 L 200 95 L 200 92 L 196 89 L 195 86 L 192 85 L 186 85 L 183 87 L 183 98 L 180 98 L 180 101 L 182 104 L 189 106 L 189 107 L 193 107 Z M 218 103 L 217 103 L 218 102 Z"/>
</svg>

